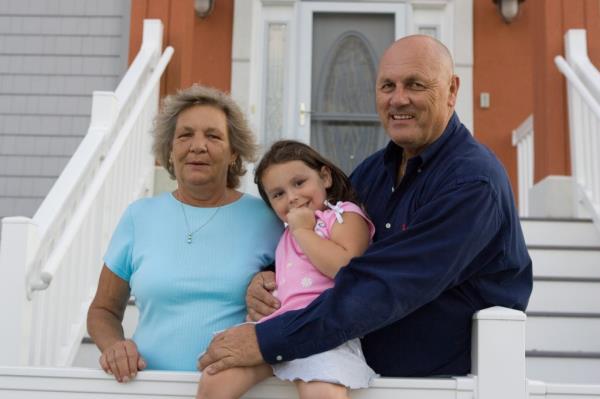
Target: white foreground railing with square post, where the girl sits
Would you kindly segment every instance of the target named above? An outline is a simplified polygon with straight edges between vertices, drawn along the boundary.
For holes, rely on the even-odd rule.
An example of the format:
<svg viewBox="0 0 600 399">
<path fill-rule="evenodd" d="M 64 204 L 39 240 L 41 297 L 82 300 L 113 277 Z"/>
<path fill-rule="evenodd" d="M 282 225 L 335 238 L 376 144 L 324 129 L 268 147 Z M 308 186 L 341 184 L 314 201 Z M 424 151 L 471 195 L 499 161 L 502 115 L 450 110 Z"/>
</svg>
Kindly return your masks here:
<svg viewBox="0 0 600 399">
<path fill-rule="evenodd" d="M 369 389 L 353 391 L 354 399 L 525 399 L 525 314 L 494 307 L 473 317 L 472 370 L 448 378 L 377 378 Z M 142 371 L 132 383 L 118 384 L 100 370 L 0 367 L 0 397 L 12 398 L 191 398 L 198 373 Z M 536 383 L 536 397 L 546 387 Z M 596 387 L 595 392 L 600 392 Z M 564 393 L 564 392 L 563 392 Z M 568 393 L 568 391 L 567 391 Z M 29 395 L 29 396 L 28 396 Z M 291 383 L 270 379 L 245 398 L 294 398 Z M 561 396 L 563 399 L 575 396 Z"/>
</svg>

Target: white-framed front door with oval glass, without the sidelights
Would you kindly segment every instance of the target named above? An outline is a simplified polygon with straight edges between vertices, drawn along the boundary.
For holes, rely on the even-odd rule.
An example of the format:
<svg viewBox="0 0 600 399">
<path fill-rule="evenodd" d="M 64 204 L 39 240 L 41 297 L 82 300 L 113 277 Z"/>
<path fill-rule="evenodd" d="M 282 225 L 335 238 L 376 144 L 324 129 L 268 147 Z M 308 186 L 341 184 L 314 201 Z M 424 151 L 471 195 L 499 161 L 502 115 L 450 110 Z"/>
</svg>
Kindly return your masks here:
<svg viewBox="0 0 600 399">
<path fill-rule="evenodd" d="M 406 6 L 301 2 L 296 137 L 346 173 L 382 148 L 375 78 L 385 49 L 406 32 Z"/>
</svg>

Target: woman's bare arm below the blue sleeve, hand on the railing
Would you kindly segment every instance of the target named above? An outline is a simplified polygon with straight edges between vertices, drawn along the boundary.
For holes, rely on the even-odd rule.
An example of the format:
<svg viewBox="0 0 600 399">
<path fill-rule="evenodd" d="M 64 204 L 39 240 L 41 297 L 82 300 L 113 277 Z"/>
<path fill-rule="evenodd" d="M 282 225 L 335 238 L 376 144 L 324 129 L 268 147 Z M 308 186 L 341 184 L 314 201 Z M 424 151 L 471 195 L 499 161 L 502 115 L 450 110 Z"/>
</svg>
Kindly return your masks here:
<svg viewBox="0 0 600 399">
<path fill-rule="evenodd" d="M 123 333 L 129 292 L 129 284 L 104 265 L 87 317 L 88 332 L 102 352 L 100 366 L 119 382 L 129 381 L 146 367 L 135 343 Z"/>
</svg>

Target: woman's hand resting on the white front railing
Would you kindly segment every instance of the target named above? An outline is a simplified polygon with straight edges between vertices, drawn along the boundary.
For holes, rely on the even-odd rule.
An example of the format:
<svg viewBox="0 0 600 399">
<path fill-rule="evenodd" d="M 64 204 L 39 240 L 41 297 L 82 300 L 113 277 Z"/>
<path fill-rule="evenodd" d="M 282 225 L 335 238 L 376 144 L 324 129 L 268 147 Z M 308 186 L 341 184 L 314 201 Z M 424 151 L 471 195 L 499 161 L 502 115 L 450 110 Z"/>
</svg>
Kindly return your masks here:
<svg viewBox="0 0 600 399">
<path fill-rule="evenodd" d="M 146 362 L 140 356 L 137 345 L 130 339 L 117 341 L 102 352 L 100 367 L 115 376 L 119 382 L 128 382 L 137 375 L 138 370 L 146 368 Z"/>
</svg>

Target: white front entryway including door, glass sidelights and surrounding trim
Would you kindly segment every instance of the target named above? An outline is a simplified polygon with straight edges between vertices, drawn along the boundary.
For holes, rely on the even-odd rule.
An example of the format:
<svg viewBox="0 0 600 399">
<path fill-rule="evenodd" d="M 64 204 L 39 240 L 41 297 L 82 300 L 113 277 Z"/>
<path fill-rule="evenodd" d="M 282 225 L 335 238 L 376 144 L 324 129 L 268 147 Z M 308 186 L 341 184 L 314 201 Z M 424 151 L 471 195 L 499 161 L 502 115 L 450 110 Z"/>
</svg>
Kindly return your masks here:
<svg viewBox="0 0 600 399">
<path fill-rule="evenodd" d="M 235 0 L 232 94 L 262 149 L 299 139 L 350 172 L 387 140 L 373 85 L 383 50 L 402 36 L 448 46 L 461 78 L 456 109 L 472 128 L 472 16 L 473 0 Z"/>
</svg>

